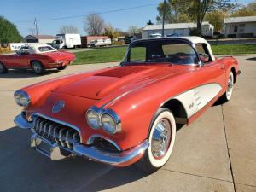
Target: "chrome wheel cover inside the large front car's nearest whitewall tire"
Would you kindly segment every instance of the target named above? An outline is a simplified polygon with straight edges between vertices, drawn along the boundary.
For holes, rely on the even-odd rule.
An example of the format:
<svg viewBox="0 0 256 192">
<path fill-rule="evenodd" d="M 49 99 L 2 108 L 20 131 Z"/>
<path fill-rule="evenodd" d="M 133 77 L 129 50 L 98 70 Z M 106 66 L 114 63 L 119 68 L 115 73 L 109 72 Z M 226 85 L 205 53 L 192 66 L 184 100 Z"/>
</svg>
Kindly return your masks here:
<svg viewBox="0 0 256 192">
<path fill-rule="evenodd" d="M 155 125 L 151 140 L 151 153 L 154 158 L 160 160 L 166 155 L 172 140 L 172 127 L 168 119 L 160 119 Z"/>
</svg>

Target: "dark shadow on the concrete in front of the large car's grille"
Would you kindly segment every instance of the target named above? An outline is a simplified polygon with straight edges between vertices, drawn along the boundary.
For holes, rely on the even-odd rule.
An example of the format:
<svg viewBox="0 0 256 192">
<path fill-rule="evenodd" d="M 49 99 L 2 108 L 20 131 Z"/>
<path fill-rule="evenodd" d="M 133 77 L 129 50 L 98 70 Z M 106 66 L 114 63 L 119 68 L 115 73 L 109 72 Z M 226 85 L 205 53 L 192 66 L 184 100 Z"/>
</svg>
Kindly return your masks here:
<svg viewBox="0 0 256 192">
<path fill-rule="evenodd" d="M 0 191 L 99 191 L 147 175 L 136 166 L 115 168 L 84 158 L 49 160 L 29 147 L 31 131 L 0 132 Z"/>
</svg>

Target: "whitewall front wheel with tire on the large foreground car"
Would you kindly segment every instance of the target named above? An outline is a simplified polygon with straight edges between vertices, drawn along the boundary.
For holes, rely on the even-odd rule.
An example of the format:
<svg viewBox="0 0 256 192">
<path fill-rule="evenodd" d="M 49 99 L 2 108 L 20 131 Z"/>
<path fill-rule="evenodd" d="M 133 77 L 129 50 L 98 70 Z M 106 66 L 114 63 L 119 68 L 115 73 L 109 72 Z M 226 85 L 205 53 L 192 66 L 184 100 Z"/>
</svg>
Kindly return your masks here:
<svg viewBox="0 0 256 192">
<path fill-rule="evenodd" d="M 137 166 L 143 172 L 155 172 L 164 166 L 172 154 L 176 136 L 176 123 L 172 112 L 160 108 L 154 117 L 154 123 L 148 137 L 149 148 Z"/>
</svg>

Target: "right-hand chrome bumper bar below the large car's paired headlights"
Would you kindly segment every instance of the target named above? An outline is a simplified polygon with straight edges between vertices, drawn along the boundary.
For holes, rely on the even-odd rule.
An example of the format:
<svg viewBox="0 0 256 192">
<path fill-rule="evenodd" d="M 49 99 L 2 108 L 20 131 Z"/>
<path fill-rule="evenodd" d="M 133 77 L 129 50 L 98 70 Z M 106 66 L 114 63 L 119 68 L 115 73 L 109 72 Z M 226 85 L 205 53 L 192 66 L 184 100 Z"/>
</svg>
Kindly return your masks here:
<svg viewBox="0 0 256 192">
<path fill-rule="evenodd" d="M 129 161 L 136 158 L 138 155 L 143 154 L 149 147 L 149 143 L 144 141 L 143 143 L 121 153 L 103 153 L 94 147 L 87 147 L 84 145 L 75 145 L 73 150 L 90 160 L 96 160 L 98 162 L 106 163 L 112 166 L 119 166 L 121 164 L 128 163 Z"/>
</svg>

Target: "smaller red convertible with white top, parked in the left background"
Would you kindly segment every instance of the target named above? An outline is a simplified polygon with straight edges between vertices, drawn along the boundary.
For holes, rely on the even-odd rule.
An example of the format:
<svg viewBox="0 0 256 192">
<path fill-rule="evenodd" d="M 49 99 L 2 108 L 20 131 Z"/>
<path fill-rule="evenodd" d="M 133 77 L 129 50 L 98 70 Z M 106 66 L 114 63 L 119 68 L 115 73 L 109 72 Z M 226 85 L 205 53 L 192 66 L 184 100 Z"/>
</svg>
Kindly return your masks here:
<svg viewBox="0 0 256 192">
<path fill-rule="evenodd" d="M 8 68 L 32 68 L 42 74 L 50 68 L 63 70 L 74 59 L 72 53 L 57 51 L 48 44 L 28 44 L 14 55 L 0 55 L 0 73 L 7 73 Z"/>
</svg>

